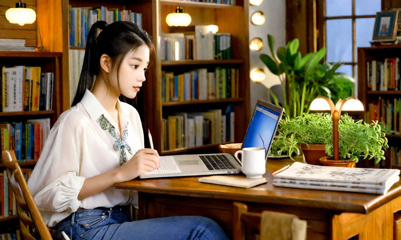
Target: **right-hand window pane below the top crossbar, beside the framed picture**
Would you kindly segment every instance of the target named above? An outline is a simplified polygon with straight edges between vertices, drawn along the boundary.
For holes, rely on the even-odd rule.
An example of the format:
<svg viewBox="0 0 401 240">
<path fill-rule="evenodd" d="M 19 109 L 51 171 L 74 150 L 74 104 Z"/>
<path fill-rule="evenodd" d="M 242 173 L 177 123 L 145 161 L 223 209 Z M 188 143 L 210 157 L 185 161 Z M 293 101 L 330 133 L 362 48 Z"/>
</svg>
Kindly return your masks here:
<svg viewBox="0 0 401 240">
<path fill-rule="evenodd" d="M 370 47 L 372 41 L 375 18 L 356 18 L 355 20 L 355 53 L 358 47 Z M 357 55 L 356 55 L 357 56 Z"/>
</svg>

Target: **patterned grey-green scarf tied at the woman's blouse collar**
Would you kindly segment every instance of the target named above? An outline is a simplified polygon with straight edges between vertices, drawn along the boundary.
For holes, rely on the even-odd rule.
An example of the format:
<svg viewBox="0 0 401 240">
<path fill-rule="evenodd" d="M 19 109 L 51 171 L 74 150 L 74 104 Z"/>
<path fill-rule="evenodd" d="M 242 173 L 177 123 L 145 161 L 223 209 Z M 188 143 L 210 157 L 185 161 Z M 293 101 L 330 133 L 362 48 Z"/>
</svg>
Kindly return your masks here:
<svg viewBox="0 0 401 240">
<path fill-rule="evenodd" d="M 113 144 L 113 148 L 115 151 L 118 151 L 121 149 L 120 152 L 120 166 L 122 166 L 124 163 L 127 162 L 127 154 L 125 150 L 127 150 L 130 154 L 131 152 L 131 147 L 126 143 L 126 139 L 128 137 L 128 123 L 126 125 L 126 128 L 123 131 L 123 136 L 122 138 L 119 138 L 117 132 L 115 131 L 115 128 L 111 123 L 105 118 L 105 116 L 102 114 L 101 117 L 96 121 L 100 128 L 103 130 L 107 130 L 107 132 L 115 139 L 115 142 Z"/>
</svg>

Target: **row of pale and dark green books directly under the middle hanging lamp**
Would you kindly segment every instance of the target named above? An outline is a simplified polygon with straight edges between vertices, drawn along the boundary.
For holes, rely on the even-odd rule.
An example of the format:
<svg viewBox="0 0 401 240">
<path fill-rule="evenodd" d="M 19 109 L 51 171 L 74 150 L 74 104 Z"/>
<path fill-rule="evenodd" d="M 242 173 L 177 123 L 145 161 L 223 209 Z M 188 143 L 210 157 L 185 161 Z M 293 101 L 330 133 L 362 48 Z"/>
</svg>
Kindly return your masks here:
<svg viewBox="0 0 401 240">
<path fill-rule="evenodd" d="M 195 26 L 194 34 L 163 33 L 162 60 L 231 59 L 231 34 L 213 33 L 208 26 Z"/>
</svg>

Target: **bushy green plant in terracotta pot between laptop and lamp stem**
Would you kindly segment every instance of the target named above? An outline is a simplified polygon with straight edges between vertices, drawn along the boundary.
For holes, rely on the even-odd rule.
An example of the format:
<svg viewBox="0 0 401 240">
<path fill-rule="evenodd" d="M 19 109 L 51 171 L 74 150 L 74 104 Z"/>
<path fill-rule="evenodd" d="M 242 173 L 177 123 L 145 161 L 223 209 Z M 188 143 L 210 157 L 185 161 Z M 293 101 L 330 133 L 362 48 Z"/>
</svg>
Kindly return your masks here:
<svg viewBox="0 0 401 240">
<path fill-rule="evenodd" d="M 302 149 L 308 164 L 322 165 L 319 158 L 326 156 L 324 136 L 331 131 L 330 114 L 304 113 L 292 119 L 282 118 L 271 149 L 273 154 Z"/>
</svg>

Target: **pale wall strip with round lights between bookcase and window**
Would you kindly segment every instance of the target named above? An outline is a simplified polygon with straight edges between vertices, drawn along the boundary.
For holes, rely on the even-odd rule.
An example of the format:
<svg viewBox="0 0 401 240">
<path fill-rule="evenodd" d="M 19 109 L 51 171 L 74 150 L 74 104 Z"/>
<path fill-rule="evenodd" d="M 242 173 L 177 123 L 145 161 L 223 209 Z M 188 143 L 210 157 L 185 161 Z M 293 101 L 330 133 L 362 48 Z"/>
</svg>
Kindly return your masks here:
<svg viewBox="0 0 401 240">
<path fill-rule="evenodd" d="M 261 11 L 265 15 L 266 21 L 261 26 L 255 26 L 251 23 L 251 15 Z M 249 49 L 249 68 L 261 68 L 265 71 L 266 78 L 261 83 L 255 83 L 252 80 L 251 88 L 251 114 L 254 110 L 257 100 L 267 100 L 267 88 L 272 88 L 273 92 L 282 99 L 281 86 L 279 78 L 269 72 L 265 64 L 260 60 L 259 55 L 264 53 L 270 55 L 269 46 L 267 45 L 267 34 L 271 34 L 275 39 L 275 50 L 280 46 L 286 46 L 286 0 L 263 0 L 259 6 L 249 5 L 249 41 L 255 37 L 261 38 L 263 48 L 260 51 L 252 51 Z"/>
</svg>

